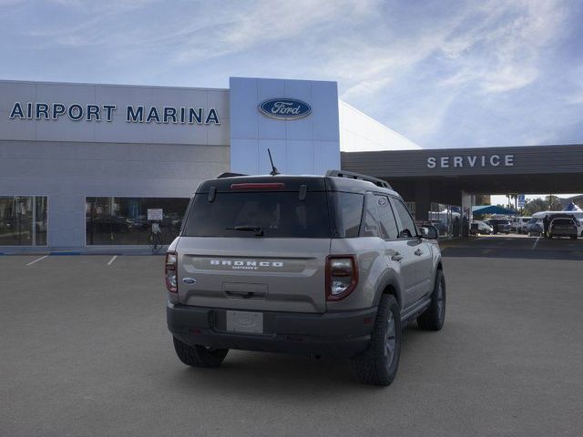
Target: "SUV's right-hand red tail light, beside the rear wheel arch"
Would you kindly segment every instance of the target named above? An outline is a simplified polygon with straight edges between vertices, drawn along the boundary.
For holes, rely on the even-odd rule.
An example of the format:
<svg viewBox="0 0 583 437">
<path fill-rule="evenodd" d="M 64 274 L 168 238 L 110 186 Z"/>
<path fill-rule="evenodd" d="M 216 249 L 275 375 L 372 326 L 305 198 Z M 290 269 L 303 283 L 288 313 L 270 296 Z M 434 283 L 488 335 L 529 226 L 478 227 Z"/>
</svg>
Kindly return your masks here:
<svg viewBox="0 0 583 437">
<path fill-rule="evenodd" d="M 357 283 L 354 255 L 334 255 L 326 259 L 326 300 L 343 300 Z"/>
</svg>

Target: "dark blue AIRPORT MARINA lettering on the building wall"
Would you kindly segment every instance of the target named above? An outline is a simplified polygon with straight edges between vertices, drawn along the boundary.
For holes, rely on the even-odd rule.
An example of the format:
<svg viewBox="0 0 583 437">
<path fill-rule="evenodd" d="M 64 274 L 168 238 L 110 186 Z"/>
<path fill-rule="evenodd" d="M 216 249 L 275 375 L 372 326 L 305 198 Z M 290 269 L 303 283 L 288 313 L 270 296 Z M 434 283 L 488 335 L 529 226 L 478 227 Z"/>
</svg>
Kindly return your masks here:
<svg viewBox="0 0 583 437">
<path fill-rule="evenodd" d="M 12 120 L 114 121 L 118 107 L 110 104 L 78 104 L 15 102 L 10 111 Z M 180 125 L 220 125 L 214 107 L 156 107 L 127 105 L 123 113 L 127 123 L 172 123 Z"/>
</svg>

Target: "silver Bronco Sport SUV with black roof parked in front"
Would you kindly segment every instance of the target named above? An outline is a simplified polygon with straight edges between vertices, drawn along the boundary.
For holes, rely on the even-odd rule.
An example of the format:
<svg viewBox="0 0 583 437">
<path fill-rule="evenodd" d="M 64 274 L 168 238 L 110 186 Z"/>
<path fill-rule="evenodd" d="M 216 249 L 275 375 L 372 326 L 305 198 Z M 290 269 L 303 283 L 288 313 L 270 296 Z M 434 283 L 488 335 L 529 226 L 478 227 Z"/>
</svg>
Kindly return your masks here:
<svg viewBox="0 0 583 437">
<path fill-rule="evenodd" d="M 230 349 L 345 357 L 358 380 L 388 385 L 402 327 L 444 324 L 436 238 L 380 179 L 207 180 L 166 257 L 176 353 L 194 367 Z"/>
</svg>

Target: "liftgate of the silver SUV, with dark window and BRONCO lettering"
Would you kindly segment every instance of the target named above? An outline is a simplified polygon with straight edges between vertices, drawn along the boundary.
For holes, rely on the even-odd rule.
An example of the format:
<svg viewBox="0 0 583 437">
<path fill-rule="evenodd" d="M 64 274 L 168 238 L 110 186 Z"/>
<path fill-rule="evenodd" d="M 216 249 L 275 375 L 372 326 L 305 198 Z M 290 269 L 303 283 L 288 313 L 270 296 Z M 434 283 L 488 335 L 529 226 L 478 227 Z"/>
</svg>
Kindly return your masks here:
<svg viewBox="0 0 583 437">
<path fill-rule="evenodd" d="M 261 184 L 260 184 L 261 185 Z M 325 192 L 197 194 L 179 239 L 179 301 L 323 312 L 331 226 Z"/>
</svg>

